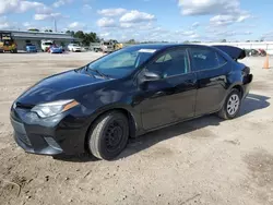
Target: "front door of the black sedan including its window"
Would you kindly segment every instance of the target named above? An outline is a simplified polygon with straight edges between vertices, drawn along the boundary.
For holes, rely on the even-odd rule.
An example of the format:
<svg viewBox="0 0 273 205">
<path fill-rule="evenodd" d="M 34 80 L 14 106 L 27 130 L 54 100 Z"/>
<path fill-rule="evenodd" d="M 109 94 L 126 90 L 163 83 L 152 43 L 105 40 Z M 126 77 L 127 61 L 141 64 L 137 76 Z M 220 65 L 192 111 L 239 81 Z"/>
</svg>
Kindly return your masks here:
<svg viewBox="0 0 273 205">
<path fill-rule="evenodd" d="M 162 79 L 146 82 L 140 89 L 143 128 L 151 130 L 193 117 L 197 75 L 190 71 L 187 49 L 165 51 L 146 70 Z"/>
</svg>

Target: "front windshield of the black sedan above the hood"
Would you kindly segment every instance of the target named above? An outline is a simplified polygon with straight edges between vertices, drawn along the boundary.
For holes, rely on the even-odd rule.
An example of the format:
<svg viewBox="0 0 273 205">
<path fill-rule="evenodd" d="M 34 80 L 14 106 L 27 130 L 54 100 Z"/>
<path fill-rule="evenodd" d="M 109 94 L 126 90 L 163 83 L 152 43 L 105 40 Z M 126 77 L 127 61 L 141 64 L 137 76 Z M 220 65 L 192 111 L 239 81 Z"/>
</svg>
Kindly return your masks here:
<svg viewBox="0 0 273 205">
<path fill-rule="evenodd" d="M 91 62 L 87 68 L 119 79 L 138 69 L 155 51 L 156 49 L 141 49 L 140 47 L 124 48 Z"/>
</svg>

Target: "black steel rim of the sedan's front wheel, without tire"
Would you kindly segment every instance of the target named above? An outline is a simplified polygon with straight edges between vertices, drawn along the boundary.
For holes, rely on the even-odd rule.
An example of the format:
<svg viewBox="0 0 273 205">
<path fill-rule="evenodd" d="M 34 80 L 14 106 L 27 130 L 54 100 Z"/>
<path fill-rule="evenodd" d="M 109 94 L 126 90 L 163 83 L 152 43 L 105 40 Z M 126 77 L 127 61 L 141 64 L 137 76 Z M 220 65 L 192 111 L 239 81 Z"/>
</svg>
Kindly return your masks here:
<svg viewBox="0 0 273 205">
<path fill-rule="evenodd" d="M 114 121 L 108 125 L 105 133 L 106 147 L 108 152 L 115 152 L 119 148 L 122 142 L 123 129 L 119 122 Z"/>
</svg>

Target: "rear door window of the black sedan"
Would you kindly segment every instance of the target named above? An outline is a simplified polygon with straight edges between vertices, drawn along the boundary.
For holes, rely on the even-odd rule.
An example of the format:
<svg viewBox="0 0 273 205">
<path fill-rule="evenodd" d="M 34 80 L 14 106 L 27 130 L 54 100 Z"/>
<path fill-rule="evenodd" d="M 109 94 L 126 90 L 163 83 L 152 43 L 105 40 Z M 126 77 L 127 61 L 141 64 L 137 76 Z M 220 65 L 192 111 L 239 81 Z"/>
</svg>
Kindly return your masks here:
<svg viewBox="0 0 273 205">
<path fill-rule="evenodd" d="M 190 53 L 194 71 L 216 69 L 226 63 L 226 60 L 212 49 L 191 48 Z"/>
</svg>

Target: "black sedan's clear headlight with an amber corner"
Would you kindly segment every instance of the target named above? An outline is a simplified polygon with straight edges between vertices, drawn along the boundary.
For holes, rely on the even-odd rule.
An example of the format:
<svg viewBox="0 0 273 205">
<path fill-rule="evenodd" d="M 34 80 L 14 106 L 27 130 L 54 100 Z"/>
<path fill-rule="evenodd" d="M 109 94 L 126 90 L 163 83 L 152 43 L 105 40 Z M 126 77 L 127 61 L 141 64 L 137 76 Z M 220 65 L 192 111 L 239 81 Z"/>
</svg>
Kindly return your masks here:
<svg viewBox="0 0 273 205">
<path fill-rule="evenodd" d="M 78 105 L 79 102 L 74 99 L 58 100 L 37 105 L 32 109 L 32 111 L 36 112 L 40 118 L 48 118 L 64 112 Z"/>
</svg>

